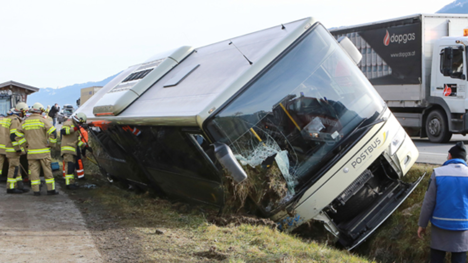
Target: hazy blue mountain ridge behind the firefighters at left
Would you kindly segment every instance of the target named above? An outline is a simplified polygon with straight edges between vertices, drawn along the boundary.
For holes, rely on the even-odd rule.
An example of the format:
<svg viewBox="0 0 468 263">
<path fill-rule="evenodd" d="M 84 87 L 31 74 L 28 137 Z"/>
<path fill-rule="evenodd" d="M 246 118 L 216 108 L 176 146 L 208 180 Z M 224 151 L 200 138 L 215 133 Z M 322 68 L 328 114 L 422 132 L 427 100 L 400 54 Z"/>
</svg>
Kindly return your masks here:
<svg viewBox="0 0 468 263">
<path fill-rule="evenodd" d="M 60 108 L 64 104 L 72 104 L 76 108 L 76 100 L 80 98 L 80 91 L 82 88 L 88 88 L 93 86 L 104 86 L 110 80 L 115 78 L 119 73 L 106 78 L 101 81 L 89 81 L 81 84 L 74 84 L 63 88 L 41 88 L 38 92 L 28 96 L 28 105 L 32 105 L 35 102 L 40 102 L 44 107 L 47 105 L 52 106 L 55 103 L 59 103 Z"/>
</svg>

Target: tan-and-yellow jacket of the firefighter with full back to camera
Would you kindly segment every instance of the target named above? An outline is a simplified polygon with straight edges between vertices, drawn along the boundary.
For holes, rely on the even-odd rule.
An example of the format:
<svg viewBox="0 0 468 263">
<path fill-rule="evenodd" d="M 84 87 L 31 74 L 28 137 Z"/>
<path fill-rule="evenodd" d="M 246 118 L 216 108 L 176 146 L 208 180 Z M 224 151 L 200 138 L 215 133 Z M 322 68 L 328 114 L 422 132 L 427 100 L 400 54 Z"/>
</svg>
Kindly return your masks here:
<svg viewBox="0 0 468 263">
<path fill-rule="evenodd" d="M 15 140 L 24 147 L 28 144 L 28 160 L 51 157 L 51 148 L 57 142 L 57 130 L 42 115 L 31 114 L 16 129 Z M 25 139 L 25 140 L 22 140 Z"/>
</svg>

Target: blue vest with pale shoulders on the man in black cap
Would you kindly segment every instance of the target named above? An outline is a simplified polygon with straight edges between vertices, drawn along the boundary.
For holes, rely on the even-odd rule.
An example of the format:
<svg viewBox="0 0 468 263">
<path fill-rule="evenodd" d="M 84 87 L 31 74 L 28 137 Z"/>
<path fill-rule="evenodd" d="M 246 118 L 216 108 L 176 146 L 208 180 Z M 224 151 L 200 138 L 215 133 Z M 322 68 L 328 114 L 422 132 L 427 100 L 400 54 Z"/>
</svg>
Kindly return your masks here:
<svg viewBox="0 0 468 263">
<path fill-rule="evenodd" d="M 434 173 L 437 193 L 431 223 L 447 230 L 468 230 L 468 167 L 448 164 Z"/>
</svg>

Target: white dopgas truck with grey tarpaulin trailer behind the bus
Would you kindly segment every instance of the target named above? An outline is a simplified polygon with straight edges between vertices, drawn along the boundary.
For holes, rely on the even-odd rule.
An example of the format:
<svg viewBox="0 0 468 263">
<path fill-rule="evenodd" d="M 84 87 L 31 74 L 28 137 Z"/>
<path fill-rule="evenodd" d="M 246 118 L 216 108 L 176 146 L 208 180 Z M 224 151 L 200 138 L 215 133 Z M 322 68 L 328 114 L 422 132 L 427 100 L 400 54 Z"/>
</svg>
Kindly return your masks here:
<svg viewBox="0 0 468 263">
<path fill-rule="evenodd" d="M 411 136 L 468 132 L 468 15 L 411 15 L 330 29 L 361 51 L 358 66 Z"/>
</svg>

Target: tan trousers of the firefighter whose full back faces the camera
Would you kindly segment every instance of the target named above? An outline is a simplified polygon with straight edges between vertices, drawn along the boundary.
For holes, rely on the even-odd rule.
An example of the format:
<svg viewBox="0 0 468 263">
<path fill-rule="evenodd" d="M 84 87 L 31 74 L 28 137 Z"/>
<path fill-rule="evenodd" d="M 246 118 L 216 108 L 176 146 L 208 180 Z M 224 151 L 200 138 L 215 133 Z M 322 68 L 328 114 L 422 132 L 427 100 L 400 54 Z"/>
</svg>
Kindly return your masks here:
<svg viewBox="0 0 468 263">
<path fill-rule="evenodd" d="M 44 178 L 45 183 L 47 185 L 47 190 L 55 190 L 55 180 L 54 176 L 52 175 L 51 168 L 51 157 L 36 160 L 28 160 L 28 164 L 29 170 L 31 171 L 31 174 L 29 175 L 29 180 L 31 180 L 31 188 L 34 192 L 40 191 L 39 185 L 41 184 L 41 180 L 39 179 L 39 175 L 41 174 L 41 167 L 44 171 Z"/>
</svg>

